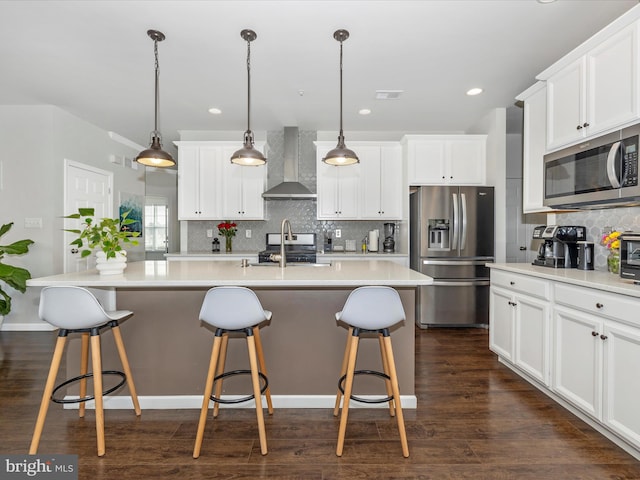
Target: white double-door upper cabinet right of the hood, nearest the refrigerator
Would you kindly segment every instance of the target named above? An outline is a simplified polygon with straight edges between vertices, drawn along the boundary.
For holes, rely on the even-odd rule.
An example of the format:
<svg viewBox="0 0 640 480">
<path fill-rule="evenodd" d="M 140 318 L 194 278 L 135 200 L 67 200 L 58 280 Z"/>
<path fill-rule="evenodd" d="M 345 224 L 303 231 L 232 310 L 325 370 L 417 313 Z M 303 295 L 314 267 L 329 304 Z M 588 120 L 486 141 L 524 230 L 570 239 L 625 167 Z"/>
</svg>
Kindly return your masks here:
<svg viewBox="0 0 640 480">
<path fill-rule="evenodd" d="M 400 144 L 355 146 L 360 159 L 363 220 L 402 218 L 402 148 Z"/>
</svg>

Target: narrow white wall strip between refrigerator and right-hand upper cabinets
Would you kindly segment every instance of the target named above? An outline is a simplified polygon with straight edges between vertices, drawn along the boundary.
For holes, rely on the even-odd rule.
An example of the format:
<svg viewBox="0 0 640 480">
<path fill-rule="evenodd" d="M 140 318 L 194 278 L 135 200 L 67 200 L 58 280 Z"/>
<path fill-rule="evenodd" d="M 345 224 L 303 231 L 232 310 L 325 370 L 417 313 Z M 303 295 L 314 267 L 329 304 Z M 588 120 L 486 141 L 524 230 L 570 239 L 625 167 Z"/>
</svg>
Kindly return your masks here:
<svg viewBox="0 0 640 480">
<path fill-rule="evenodd" d="M 487 136 L 487 185 L 495 187 L 496 262 L 506 258 L 506 109 L 489 112 L 469 132 Z"/>
</svg>

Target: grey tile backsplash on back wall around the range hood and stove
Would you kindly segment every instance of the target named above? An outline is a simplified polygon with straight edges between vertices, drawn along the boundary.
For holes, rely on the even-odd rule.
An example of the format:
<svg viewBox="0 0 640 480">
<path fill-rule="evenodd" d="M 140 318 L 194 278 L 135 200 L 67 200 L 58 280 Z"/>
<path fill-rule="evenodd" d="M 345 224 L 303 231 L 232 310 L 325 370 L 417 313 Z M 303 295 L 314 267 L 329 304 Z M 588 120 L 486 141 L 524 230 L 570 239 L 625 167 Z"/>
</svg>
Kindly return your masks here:
<svg viewBox="0 0 640 480">
<path fill-rule="evenodd" d="M 315 131 L 299 131 L 298 181 L 316 191 L 316 140 Z M 267 188 L 271 188 L 283 181 L 284 130 L 267 132 L 266 155 L 268 161 Z M 218 234 L 217 225 L 223 220 L 235 221 L 238 233 L 233 239 L 233 249 L 238 251 L 260 251 L 265 247 L 267 233 L 279 233 L 282 219 L 291 222 L 293 232 L 315 233 L 317 245 L 322 248 L 325 235 L 331 235 L 334 245 L 345 246 L 345 240 L 355 240 L 356 250 L 359 251 L 362 239 L 370 230 L 380 230 L 380 242 L 383 240 L 383 221 L 341 221 L 318 220 L 316 218 L 316 200 L 269 200 L 265 202 L 266 220 L 242 221 L 234 218 L 216 221 L 189 221 L 187 251 L 190 253 L 210 252 L 213 238 L 207 237 L 207 230 L 213 230 L 214 237 Z M 245 231 L 251 230 L 251 238 L 246 238 Z M 341 238 L 335 238 L 335 230 L 340 229 Z M 396 232 L 396 240 L 398 232 Z M 382 244 L 380 244 L 382 249 Z"/>
</svg>

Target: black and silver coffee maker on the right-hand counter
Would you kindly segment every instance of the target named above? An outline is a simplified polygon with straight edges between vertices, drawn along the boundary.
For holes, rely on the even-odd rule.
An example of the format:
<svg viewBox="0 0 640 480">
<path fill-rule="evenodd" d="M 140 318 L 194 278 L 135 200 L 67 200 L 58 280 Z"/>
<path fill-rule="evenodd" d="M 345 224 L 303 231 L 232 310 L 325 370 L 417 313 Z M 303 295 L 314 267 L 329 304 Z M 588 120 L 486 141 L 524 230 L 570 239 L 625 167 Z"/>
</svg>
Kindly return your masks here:
<svg viewBox="0 0 640 480">
<path fill-rule="evenodd" d="M 552 268 L 578 267 L 578 242 L 586 240 L 582 226 L 547 225 L 536 227 L 533 238 L 542 240 L 533 265 Z"/>
</svg>

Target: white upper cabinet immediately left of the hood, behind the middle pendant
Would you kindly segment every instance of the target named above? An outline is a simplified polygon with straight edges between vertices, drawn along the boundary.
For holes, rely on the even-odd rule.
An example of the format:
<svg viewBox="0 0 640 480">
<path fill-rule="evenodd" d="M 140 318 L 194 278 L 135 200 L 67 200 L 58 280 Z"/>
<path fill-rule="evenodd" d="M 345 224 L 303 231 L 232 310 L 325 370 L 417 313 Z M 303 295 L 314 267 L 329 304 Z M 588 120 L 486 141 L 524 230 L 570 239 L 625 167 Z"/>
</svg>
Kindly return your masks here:
<svg viewBox="0 0 640 480">
<path fill-rule="evenodd" d="M 224 198 L 222 216 L 238 220 L 264 220 L 264 199 L 262 194 L 267 184 L 267 167 L 259 165 L 247 167 L 232 164 L 229 159 L 239 147 L 223 148 L 227 160 L 223 168 Z M 256 144 L 262 151 L 262 144 Z"/>
</svg>

